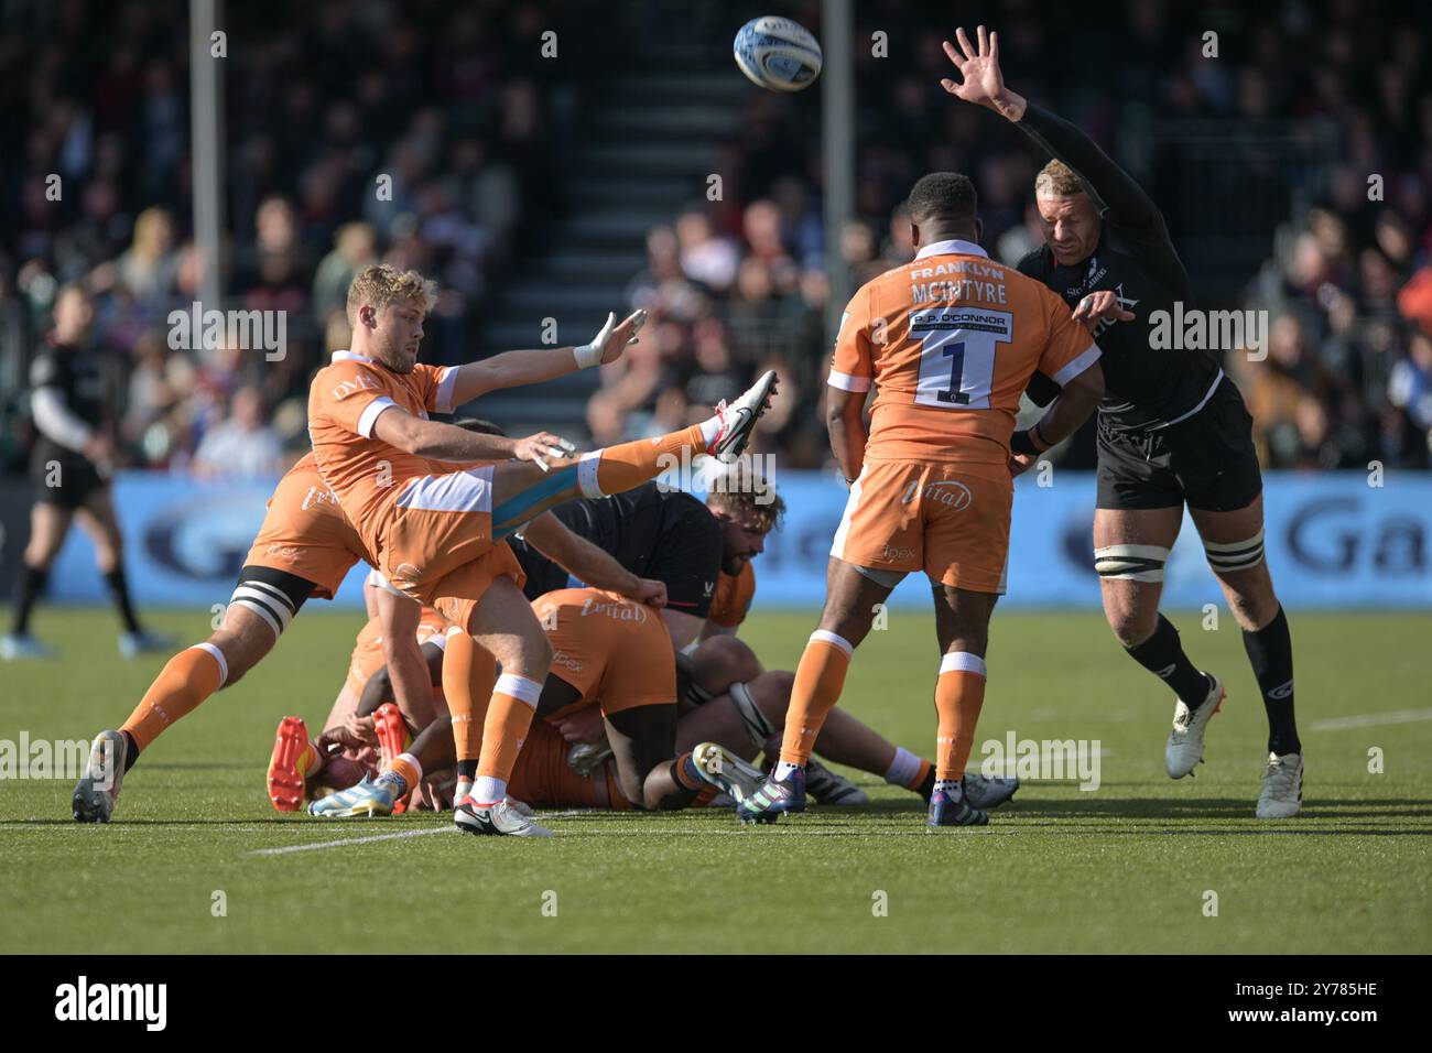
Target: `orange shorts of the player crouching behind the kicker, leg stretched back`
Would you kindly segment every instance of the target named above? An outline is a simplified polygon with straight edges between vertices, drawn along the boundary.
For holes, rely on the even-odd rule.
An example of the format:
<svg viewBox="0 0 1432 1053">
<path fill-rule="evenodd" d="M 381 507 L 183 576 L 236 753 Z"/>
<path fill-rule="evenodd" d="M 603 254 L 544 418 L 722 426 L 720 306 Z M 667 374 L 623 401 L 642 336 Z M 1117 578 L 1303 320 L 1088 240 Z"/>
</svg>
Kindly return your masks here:
<svg viewBox="0 0 1432 1053">
<path fill-rule="evenodd" d="M 362 559 L 362 542 L 318 470 L 301 468 L 279 480 L 242 566 L 296 574 L 314 583 L 314 597 L 331 600 Z"/>
</svg>

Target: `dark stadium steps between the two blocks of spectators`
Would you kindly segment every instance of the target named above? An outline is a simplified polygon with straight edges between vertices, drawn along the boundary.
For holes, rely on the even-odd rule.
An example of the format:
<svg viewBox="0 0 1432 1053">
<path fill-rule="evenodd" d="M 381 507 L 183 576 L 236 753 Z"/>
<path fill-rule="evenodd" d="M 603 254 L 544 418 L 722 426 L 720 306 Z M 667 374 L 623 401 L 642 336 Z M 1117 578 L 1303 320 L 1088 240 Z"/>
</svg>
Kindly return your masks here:
<svg viewBox="0 0 1432 1053">
<path fill-rule="evenodd" d="M 546 252 L 495 297 L 483 347 L 490 354 L 540 347 L 543 318 L 557 319 L 560 342 L 581 342 L 607 311 L 624 309 L 627 287 L 646 266 L 647 232 L 703 198 L 750 90 L 725 63 L 647 66 L 601 85 L 581 122 L 586 140 L 569 153 L 570 215 L 548 228 Z M 485 395 L 467 411 L 514 434 L 553 428 L 586 441 L 587 398 L 596 388 L 597 375 L 587 370 Z"/>
</svg>

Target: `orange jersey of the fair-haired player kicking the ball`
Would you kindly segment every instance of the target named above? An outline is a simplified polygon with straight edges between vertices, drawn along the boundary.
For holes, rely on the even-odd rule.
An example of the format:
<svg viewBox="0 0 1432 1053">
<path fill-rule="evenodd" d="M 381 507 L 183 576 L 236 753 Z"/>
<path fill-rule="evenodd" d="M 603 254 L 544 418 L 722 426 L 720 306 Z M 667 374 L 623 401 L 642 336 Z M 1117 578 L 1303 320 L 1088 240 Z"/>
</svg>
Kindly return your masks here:
<svg viewBox="0 0 1432 1053">
<path fill-rule="evenodd" d="M 392 506 L 412 479 L 434 474 L 434 463 L 372 437 L 374 421 L 390 405 L 414 417 L 453 411 L 457 370 L 415 365 L 404 375 L 351 351 L 314 375 L 308 390 L 308 437 L 324 480 L 337 491 L 348 520 L 374 556 Z M 463 466 L 447 466 L 458 471 Z"/>
</svg>

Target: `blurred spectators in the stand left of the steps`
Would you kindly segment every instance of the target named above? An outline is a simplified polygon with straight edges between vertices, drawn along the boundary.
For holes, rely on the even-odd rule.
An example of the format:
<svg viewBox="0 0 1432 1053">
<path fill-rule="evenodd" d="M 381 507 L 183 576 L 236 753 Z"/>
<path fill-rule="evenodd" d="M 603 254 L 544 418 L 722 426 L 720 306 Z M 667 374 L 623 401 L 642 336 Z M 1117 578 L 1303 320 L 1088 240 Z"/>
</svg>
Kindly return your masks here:
<svg viewBox="0 0 1432 1053">
<path fill-rule="evenodd" d="M 308 378 L 348 345 L 348 282 L 369 262 L 438 279 L 425 354 L 461 357 L 523 251 L 516 232 L 563 208 L 554 112 L 589 70 L 566 62 L 553 82 L 537 63 L 543 32 L 590 17 L 569 7 L 225 6 L 225 307 L 286 312 L 285 355 L 268 361 L 169 345 L 170 311 L 203 278 L 186 6 L 0 6 L 0 191 L 14 202 L 0 209 L 0 464 L 23 460 L 24 362 L 70 282 L 93 298 L 129 464 L 269 470 L 304 447 Z"/>
</svg>

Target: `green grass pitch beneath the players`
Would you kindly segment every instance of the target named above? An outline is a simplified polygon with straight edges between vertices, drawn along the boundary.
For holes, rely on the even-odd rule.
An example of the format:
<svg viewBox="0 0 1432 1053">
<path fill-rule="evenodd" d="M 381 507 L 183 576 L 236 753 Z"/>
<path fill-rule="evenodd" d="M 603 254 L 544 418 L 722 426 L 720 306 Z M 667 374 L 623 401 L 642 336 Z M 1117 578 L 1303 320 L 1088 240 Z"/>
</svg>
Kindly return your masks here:
<svg viewBox="0 0 1432 1053">
<path fill-rule="evenodd" d="M 198 640 L 208 617 L 152 620 Z M 1171 698 L 1097 615 L 1002 612 L 975 761 L 1010 731 L 1097 739 L 1097 789 L 1027 782 L 990 827 L 927 832 L 916 797 L 862 774 L 868 811 L 759 830 L 715 811 L 560 814 L 554 840 L 527 841 L 431 814 L 274 812 L 274 728 L 322 721 L 359 626 L 315 603 L 145 754 L 112 825 L 70 821 L 69 779 L 0 781 L 0 951 L 1432 950 L 1432 616 L 1295 615 L 1309 768 L 1285 822 L 1253 818 L 1264 721 L 1236 626 L 1174 620 L 1229 685 L 1197 778 L 1164 775 Z M 743 636 L 793 668 L 813 625 L 758 610 Z M 62 658 L 0 665 L 3 739 L 117 726 L 165 660 L 116 658 L 107 612 L 42 610 L 36 632 Z M 935 668 L 931 619 L 892 616 L 843 705 L 929 756 Z"/>
</svg>

